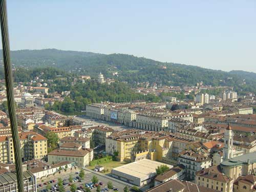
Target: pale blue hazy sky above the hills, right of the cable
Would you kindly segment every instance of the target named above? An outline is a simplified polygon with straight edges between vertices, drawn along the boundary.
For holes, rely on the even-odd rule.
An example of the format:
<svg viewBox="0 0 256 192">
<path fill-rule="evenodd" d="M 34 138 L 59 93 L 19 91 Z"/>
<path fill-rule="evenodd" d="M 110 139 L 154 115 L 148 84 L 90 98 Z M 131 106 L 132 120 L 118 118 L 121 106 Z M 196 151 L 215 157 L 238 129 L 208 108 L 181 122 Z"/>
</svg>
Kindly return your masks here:
<svg viewBox="0 0 256 192">
<path fill-rule="evenodd" d="M 126 53 L 256 72 L 256 1 L 8 0 L 11 50 Z"/>
</svg>

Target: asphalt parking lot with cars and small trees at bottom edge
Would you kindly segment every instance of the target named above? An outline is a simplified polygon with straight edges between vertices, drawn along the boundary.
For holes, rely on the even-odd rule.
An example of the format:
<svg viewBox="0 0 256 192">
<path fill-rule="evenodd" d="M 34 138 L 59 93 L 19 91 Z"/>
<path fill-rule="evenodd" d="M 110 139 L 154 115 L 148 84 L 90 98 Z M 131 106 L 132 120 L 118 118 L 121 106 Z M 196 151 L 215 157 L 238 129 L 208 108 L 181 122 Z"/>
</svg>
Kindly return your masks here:
<svg viewBox="0 0 256 192">
<path fill-rule="evenodd" d="M 86 187 L 85 184 L 90 183 L 93 176 L 96 176 L 96 177 L 99 179 L 99 182 L 102 182 L 102 185 L 100 185 L 100 189 L 108 188 L 108 187 L 106 186 L 106 183 L 108 183 L 109 181 L 112 182 L 114 188 L 118 188 L 118 191 L 123 191 L 123 188 L 125 187 L 125 185 L 123 185 L 123 184 L 121 184 L 121 183 L 119 183 L 119 182 L 116 182 L 116 181 L 107 179 L 107 178 L 105 178 L 105 177 L 99 176 L 99 175 L 94 174 L 94 173 L 91 173 L 91 172 L 87 172 L 86 170 L 84 171 L 84 173 L 85 173 L 85 175 L 84 175 L 84 179 L 82 180 L 82 182 L 79 182 L 79 181 L 73 182 L 73 183 L 76 184 L 77 187 L 82 186 L 83 188 L 85 188 L 85 187 Z M 72 176 L 72 178 L 76 178 L 76 177 L 78 176 L 78 174 L 72 173 L 72 174 L 64 175 L 64 176 L 62 176 L 61 178 L 62 178 L 63 180 L 66 179 L 65 182 L 68 182 L 68 183 L 69 183 L 69 177 L 70 177 L 70 175 Z M 59 178 L 59 177 L 54 178 L 54 180 L 55 180 L 56 182 L 55 182 L 55 183 L 51 183 L 51 186 L 54 186 L 55 184 L 57 184 L 58 178 Z M 45 182 L 44 182 L 44 183 L 45 183 Z M 47 185 L 45 185 L 44 183 L 37 183 L 37 185 L 42 184 L 41 187 L 38 186 L 37 191 L 41 192 L 41 191 L 43 191 L 44 189 L 46 189 L 46 186 L 47 186 Z M 70 186 L 69 186 L 69 185 L 65 185 L 65 191 L 70 191 Z M 91 191 L 96 191 L 96 188 L 91 189 Z M 103 191 L 103 190 L 102 190 L 102 191 Z M 108 189 L 108 191 L 114 191 L 114 190 L 113 190 L 113 189 Z"/>
</svg>

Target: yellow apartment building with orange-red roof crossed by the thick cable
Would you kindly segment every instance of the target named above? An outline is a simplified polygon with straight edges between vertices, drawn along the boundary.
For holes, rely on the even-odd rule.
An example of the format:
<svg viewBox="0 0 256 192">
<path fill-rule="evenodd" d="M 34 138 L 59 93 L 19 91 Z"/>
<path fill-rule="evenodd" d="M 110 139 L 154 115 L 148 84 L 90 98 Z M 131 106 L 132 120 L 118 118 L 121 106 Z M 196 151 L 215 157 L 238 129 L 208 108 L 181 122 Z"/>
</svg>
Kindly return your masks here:
<svg viewBox="0 0 256 192">
<path fill-rule="evenodd" d="M 32 131 L 19 133 L 22 160 L 42 159 L 47 156 L 47 138 Z M 14 147 L 12 137 L 0 136 L 0 162 L 14 163 Z"/>
</svg>

